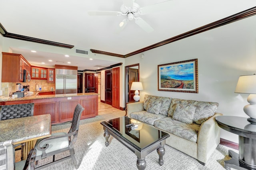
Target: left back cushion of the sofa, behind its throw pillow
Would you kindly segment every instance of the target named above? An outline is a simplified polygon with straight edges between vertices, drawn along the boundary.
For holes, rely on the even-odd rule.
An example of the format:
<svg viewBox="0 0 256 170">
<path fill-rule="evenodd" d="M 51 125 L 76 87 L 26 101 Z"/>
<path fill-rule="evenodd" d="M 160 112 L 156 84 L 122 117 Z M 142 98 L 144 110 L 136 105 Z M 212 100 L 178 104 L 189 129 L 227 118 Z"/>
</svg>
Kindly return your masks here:
<svg viewBox="0 0 256 170">
<path fill-rule="evenodd" d="M 166 115 L 166 116 L 168 115 L 168 110 L 170 108 L 172 98 L 152 96 L 149 94 L 145 94 L 144 101 L 143 101 L 144 110 L 147 110 L 150 100 L 161 100 L 162 104 L 160 106 L 159 114 Z"/>
</svg>

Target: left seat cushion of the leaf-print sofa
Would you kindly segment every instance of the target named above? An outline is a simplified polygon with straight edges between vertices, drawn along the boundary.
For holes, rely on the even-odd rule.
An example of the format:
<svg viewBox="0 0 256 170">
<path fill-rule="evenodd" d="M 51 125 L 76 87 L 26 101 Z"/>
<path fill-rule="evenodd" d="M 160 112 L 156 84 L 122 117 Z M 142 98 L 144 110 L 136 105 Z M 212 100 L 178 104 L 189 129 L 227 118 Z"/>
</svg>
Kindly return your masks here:
<svg viewBox="0 0 256 170">
<path fill-rule="evenodd" d="M 134 113 L 130 113 L 130 117 L 137 119 L 139 121 L 143 121 L 145 123 L 148 123 L 150 125 L 154 125 L 154 121 L 161 119 L 163 117 L 166 117 L 165 115 L 161 114 L 154 114 L 154 113 L 149 113 L 147 111 L 138 111 Z"/>
</svg>

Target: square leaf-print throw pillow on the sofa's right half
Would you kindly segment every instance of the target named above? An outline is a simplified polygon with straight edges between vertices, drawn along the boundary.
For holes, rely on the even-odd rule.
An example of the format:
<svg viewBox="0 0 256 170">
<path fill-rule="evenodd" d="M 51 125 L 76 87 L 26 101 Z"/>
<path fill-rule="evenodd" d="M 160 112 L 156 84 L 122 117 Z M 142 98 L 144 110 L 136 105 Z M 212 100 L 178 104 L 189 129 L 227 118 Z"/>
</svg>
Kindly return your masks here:
<svg viewBox="0 0 256 170">
<path fill-rule="evenodd" d="M 195 110 L 196 106 L 193 105 L 185 106 L 183 104 L 176 104 L 176 108 L 172 118 L 178 121 L 182 121 L 184 123 L 192 123 Z"/>
</svg>

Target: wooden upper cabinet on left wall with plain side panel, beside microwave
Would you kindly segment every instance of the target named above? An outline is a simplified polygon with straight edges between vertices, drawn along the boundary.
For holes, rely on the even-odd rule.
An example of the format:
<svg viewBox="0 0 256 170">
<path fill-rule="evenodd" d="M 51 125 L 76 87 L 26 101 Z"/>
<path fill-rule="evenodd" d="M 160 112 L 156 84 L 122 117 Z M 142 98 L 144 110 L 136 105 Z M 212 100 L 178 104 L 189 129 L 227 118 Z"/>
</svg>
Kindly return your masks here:
<svg viewBox="0 0 256 170">
<path fill-rule="evenodd" d="M 24 70 L 30 72 L 30 64 L 21 54 L 2 52 L 2 82 L 22 82 Z"/>
</svg>

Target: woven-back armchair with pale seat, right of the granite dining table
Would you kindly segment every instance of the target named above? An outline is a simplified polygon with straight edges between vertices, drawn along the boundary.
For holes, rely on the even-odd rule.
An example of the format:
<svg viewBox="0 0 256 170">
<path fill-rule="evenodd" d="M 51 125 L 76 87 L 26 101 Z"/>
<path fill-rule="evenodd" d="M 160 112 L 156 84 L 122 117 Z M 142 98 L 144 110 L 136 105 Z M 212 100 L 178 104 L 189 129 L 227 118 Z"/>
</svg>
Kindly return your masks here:
<svg viewBox="0 0 256 170">
<path fill-rule="evenodd" d="M 36 164 L 38 164 L 38 160 L 53 156 L 52 162 L 36 168 L 45 168 L 47 166 L 61 162 L 71 157 L 75 168 L 78 169 L 78 164 L 76 162 L 76 158 L 74 157 L 74 144 L 78 136 L 79 122 L 83 110 L 84 108 L 80 104 L 76 106 L 71 127 L 68 133 L 53 133 L 50 137 L 46 137 L 44 139 L 39 139 L 36 141 Z M 65 152 L 67 150 L 69 150 L 70 152 L 69 156 L 61 158 L 59 160 L 55 160 L 55 154 Z"/>
</svg>

